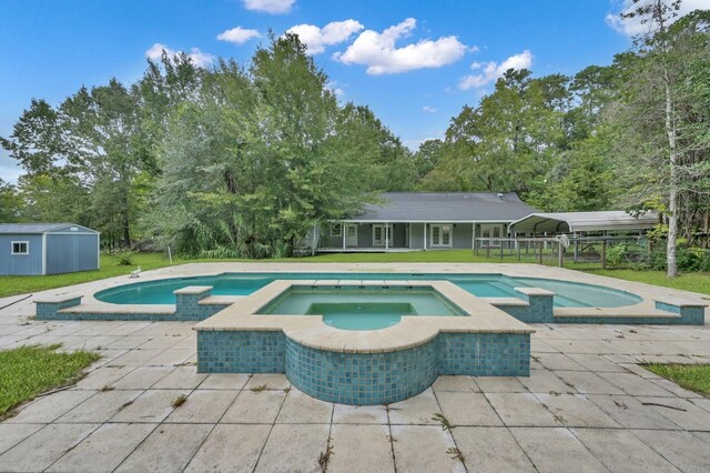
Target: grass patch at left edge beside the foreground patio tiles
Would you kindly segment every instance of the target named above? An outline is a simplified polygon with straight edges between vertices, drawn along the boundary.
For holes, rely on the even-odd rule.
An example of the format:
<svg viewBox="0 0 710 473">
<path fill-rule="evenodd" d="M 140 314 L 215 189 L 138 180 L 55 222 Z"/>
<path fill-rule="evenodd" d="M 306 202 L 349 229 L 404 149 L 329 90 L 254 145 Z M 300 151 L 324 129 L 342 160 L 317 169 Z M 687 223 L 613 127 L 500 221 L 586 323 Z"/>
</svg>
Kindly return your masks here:
<svg viewBox="0 0 710 473">
<path fill-rule="evenodd" d="M 28 345 L 0 351 L 0 419 L 45 391 L 77 382 L 99 354 L 58 352 L 61 345 Z"/>
</svg>

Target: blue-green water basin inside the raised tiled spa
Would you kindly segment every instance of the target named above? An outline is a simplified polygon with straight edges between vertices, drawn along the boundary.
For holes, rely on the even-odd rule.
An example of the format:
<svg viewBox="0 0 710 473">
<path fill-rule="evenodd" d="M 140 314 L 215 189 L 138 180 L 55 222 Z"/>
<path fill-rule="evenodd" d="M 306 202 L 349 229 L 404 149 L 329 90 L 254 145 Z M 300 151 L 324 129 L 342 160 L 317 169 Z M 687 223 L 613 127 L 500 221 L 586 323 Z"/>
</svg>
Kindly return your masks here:
<svg viewBox="0 0 710 473">
<path fill-rule="evenodd" d="M 378 330 L 399 323 L 403 315 L 465 316 L 456 304 L 432 286 L 304 286 L 292 285 L 256 311 L 260 315 L 323 315 L 326 325 L 342 330 Z"/>
</svg>

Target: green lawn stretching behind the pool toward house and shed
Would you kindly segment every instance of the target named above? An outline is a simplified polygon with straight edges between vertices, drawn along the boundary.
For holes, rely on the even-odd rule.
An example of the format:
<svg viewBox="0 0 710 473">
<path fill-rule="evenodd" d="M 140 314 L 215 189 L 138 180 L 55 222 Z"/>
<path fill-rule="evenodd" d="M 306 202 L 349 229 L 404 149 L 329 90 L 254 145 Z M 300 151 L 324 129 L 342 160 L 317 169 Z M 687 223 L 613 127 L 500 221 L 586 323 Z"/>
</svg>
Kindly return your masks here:
<svg viewBox="0 0 710 473">
<path fill-rule="evenodd" d="M 214 262 L 214 261 L 250 261 L 250 260 L 184 260 L 174 259 L 174 264 L 190 262 Z M 485 253 L 476 255 L 470 250 L 447 250 L 447 251 L 413 251 L 406 253 L 332 253 L 306 258 L 260 260 L 261 262 L 288 262 L 288 263 L 385 263 L 385 262 L 425 262 L 425 263 L 517 263 L 517 255 L 505 254 L 500 260 L 491 253 L 491 258 L 486 258 Z M 252 261 L 254 262 L 254 261 Z M 537 260 L 532 254 L 523 254 L 521 263 L 535 263 Z M 555 258 L 546 256 L 544 264 L 556 265 Z M 61 288 L 65 285 L 79 284 L 82 282 L 95 281 L 118 275 L 128 275 L 136 266 L 144 271 L 170 265 L 170 261 L 161 253 L 139 253 L 133 256 L 133 264 L 122 266 L 118 264 L 114 256 L 102 255 L 101 269 L 97 271 L 83 271 L 80 273 L 53 274 L 45 276 L 0 276 L 0 298 L 26 294 L 47 289 Z M 565 268 L 589 271 L 594 274 L 601 274 L 611 278 L 619 278 L 628 281 L 638 281 L 649 284 L 662 285 L 673 289 L 710 294 L 710 274 L 688 273 L 676 279 L 666 278 L 660 271 L 632 271 L 632 270 L 600 270 L 598 265 L 590 263 L 575 264 L 571 260 L 565 261 Z"/>
</svg>

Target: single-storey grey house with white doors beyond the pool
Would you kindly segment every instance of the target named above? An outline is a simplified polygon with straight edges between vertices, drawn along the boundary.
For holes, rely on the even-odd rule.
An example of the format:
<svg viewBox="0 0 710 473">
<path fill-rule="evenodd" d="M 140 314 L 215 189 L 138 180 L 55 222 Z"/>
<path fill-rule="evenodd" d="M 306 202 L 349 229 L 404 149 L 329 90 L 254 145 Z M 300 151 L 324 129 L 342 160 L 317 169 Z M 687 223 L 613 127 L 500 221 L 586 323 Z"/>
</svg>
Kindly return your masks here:
<svg viewBox="0 0 710 473">
<path fill-rule="evenodd" d="M 508 224 L 537 212 L 514 192 L 387 192 L 379 200 L 331 222 L 318 251 L 473 249 L 474 239 L 505 238 Z"/>
</svg>

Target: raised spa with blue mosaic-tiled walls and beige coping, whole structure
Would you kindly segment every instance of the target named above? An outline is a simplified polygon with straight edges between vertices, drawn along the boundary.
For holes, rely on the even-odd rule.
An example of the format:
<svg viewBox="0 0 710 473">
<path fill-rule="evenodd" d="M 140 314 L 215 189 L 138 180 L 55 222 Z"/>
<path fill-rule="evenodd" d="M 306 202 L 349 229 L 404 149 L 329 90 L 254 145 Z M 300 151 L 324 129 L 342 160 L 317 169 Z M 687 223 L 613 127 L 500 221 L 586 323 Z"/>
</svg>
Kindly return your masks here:
<svg viewBox="0 0 710 473">
<path fill-rule="evenodd" d="M 410 397 L 439 374 L 527 376 L 534 332 L 448 281 L 275 281 L 194 329 L 199 372 L 285 373 L 357 405 Z"/>
</svg>

